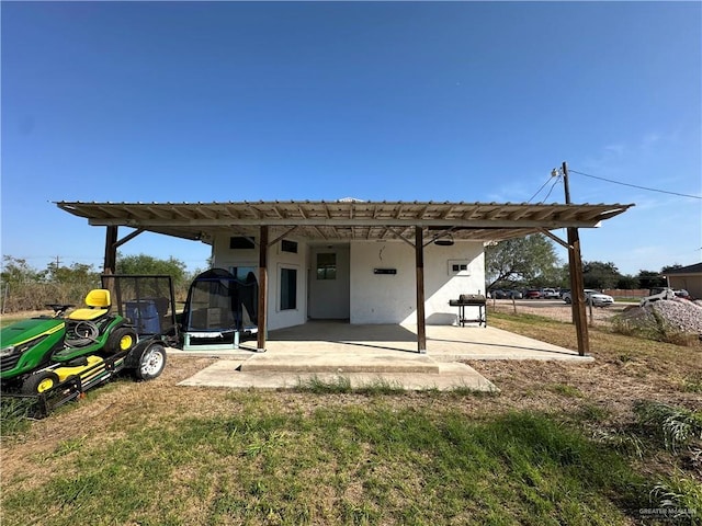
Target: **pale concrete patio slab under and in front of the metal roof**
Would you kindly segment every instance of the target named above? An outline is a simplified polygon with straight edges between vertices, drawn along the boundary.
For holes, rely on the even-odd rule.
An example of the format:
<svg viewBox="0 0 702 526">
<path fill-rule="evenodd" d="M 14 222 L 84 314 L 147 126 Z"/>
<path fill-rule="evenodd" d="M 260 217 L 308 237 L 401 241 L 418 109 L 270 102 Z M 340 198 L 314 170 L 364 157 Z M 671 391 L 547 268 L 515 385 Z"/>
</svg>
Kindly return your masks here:
<svg viewBox="0 0 702 526">
<path fill-rule="evenodd" d="M 189 351 L 169 348 L 173 355 L 215 356 L 215 364 L 180 382 L 181 386 L 230 388 L 293 388 L 310 379 L 351 387 L 378 382 L 405 389 L 495 391 L 475 369 L 460 363 L 474 359 L 558 359 L 591 362 L 577 352 L 491 327 L 427 327 L 427 353 L 417 351 L 412 325 L 351 325 L 309 322 L 271 331 L 267 352 L 256 342 L 238 350 Z"/>
</svg>

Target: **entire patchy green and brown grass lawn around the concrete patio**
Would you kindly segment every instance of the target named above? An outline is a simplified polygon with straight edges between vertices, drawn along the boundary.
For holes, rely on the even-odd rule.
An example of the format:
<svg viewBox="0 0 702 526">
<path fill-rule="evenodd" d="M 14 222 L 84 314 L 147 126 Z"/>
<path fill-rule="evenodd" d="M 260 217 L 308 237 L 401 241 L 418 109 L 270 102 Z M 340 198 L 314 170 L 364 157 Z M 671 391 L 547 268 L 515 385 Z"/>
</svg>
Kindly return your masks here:
<svg viewBox="0 0 702 526">
<path fill-rule="evenodd" d="M 575 342 L 568 323 L 491 323 Z M 486 364 L 499 395 L 115 381 L 5 436 L 0 524 L 632 525 L 647 510 L 699 524 L 702 395 L 682 379 L 700 350 L 601 329 L 591 342 L 593 366 Z M 656 400 L 610 403 L 591 385 L 603 370 L 670 379 Z"/>
</svg>

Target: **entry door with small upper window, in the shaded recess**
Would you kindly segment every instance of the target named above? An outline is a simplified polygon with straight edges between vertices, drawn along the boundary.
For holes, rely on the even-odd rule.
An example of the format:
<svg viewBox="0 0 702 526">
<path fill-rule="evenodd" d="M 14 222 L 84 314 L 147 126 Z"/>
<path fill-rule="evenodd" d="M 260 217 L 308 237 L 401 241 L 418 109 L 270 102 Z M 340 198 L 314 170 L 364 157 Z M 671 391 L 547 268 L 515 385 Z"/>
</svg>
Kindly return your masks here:
<svg viewBox="0 0 702 526">
<path fill-rule="evenodd" d="M 351 250 L 348 244 L 314 247 L 310 254 L 309 318 L 344 320 L 351 316 Z"/>
</svg>

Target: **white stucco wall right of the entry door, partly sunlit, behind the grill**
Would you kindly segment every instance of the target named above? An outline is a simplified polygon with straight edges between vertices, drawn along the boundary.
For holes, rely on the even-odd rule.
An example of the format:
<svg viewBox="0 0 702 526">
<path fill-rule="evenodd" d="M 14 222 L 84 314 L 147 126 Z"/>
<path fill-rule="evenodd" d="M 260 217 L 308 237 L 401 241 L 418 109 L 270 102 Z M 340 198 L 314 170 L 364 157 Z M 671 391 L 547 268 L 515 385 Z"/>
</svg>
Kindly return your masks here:
<svg viewBox="0 0 702 526">
<path fill-rule="evenodd" d="M 450 262 L 467 265 L 454 275 Z M 396 268 L 376 275 L 373 270 Z M 461 294 L 485 294 L 482 242 L 456 241 L 452 247 L 424 248 L 424 315 L 429 324 L 452 324 L 457 308 L 450 299 Z M 415 250 L 403 241 L 351 243 L 351 323 L 416 323 Z M 466 309 L 477 318 L 477 308 Z"/>
</svg>

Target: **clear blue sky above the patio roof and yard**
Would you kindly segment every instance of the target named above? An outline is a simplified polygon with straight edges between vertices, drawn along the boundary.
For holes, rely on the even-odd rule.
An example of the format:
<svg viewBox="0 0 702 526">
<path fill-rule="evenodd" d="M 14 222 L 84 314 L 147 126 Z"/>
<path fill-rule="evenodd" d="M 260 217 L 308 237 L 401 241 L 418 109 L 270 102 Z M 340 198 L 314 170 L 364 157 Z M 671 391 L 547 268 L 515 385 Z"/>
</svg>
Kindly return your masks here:
<svg viewBox="0 0 702 526">
<path fill-rule="evenodd" d="M 0 9 L 1 249 L 37 268 L 102 264 L 104 228 L 55 201 L 523 203 L 563 161 L 702 196 L 700 2 Z M 702 261 L 700 198 L 577 173 L 570 193 L 636 204 L 581 230 L 584 260 Z M 548 182 L 532 203 L 563 199 Z M 210 253 L 154 235 L 121 252 Z"/>
</svg>

